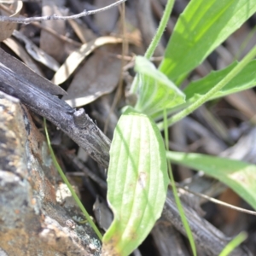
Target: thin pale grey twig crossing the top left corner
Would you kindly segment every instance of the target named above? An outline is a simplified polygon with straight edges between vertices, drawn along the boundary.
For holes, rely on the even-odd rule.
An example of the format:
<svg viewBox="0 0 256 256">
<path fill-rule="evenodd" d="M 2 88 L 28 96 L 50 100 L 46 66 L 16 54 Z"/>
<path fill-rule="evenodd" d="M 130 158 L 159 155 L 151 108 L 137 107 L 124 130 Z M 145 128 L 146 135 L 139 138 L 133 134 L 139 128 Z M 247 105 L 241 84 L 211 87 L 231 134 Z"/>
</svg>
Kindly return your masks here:
<svg viewBox="0 0 256 256">
<path fill-rule="evenodd" d="M 44 20 L 74 20 L 74 19 L 79 19 L 80 17 L 84 17 L 88 15 L 95 15 L 102 11 L 111 9 L 114 6 L 119 5 L 120 3 L 124 3 L 125 1 L 126 0 L 119 0 L 103 8 L 90 10 L 90 11 L 87 11 L 86 9 L 84 9 L 84 11 L 78 15 L 71 15 L 71 16 L 50 15 L 50 16 L 44 16 L 44 17 L 32 17 L 32 18 L 24 18 L 24 19 L 19 17 L 17 18 L 17 17 L 0 16 L 0 21 L 29 24 L 33 21 L 44 21 Z"/>
</svg>

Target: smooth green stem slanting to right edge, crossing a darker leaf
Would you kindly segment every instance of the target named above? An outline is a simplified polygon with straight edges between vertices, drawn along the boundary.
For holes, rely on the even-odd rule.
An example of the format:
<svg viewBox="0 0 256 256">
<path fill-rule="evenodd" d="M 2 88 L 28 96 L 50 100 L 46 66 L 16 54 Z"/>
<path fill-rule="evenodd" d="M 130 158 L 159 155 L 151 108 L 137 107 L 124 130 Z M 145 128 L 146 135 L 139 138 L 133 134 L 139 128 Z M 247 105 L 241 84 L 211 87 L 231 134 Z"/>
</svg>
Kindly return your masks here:
<svg viewBox="0 0 256 256">
<path fill-rule="evenodd" d="M 177 121 L 183 119 L 185 116 L 189 115 L 189 113 L 192 113 L 195 111 L 196 108 L 199 108 L 202 104 L 207 102 L 212 96 L 215 95 L 215 93 L 218 92 L 218 90 L 221 90 L 224 85 L 228 84 L 231 79 L 234 79 L 238 73 L 241 72 L 241 70 L 247 66 L 249 61 L 253 59 L 253 57 L 256 55 L 256 46 L 253 47 L 253 49 L 250 50 L 250 52 L 234 67 L 230 73 L 228 73 L 224 79 L 222 79 L 218 84 L 216 84 L 211 90 L 207 92 L 204 96 L 201 96 L 196 102 L 192 103 L 188 108 L 183 109 L 181 112 L 173 115 L 170 119 L 167 120 L 167 125 L 171 126 Z M 160 122 L 158 124 L 158 127 L 160 130 L 164 129 L 164 123 Z"/>
</svg>

